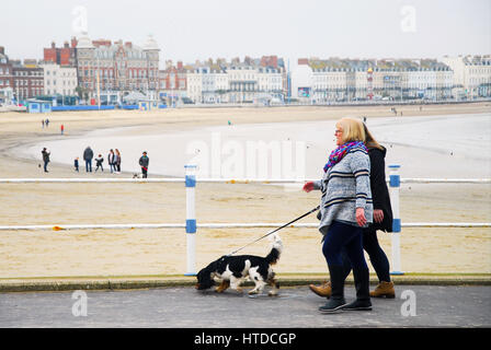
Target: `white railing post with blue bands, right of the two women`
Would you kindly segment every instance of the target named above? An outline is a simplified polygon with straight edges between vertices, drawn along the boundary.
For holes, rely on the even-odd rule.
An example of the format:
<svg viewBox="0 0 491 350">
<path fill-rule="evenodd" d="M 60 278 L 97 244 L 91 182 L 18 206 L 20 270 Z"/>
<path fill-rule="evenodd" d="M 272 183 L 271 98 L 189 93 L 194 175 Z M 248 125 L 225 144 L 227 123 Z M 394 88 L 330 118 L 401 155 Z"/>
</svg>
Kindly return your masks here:
<svg viewBox="0 0 491 350">
<path fill-rule="evenodd" d="M 401 217 L 399 211 L 399 189 L 401 185 L 399 168 L 400 165 L 389 165 L 389 192 L 390 202 L 392 206 L 392 271 L 390 275 L 404 275 L 401 269 L 401 247 L 400 247 L 400 233 L 401 233 Z"/>
</svg>

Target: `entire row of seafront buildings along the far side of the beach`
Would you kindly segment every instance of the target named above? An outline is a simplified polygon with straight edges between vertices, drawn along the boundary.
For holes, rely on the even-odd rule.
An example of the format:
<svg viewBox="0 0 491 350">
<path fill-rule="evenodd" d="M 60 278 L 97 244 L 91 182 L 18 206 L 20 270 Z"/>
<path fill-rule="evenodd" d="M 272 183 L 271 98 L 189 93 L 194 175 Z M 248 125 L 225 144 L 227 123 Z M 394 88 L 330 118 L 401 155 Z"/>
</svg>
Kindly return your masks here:
<svg viewBox="0 0 491 350">
<path fill-rule="evenodd" d="M 139 46 L 121 39 L 91 39 L 83 33 L 61 47 L 52 43 L 39 61 L 9 59 L 0 47 L 0 103 L 27 98 L 55 103 L 60 95 L 80 104 L 115 105 L 140 98 L 169 106 L 491 97 L 491 55 L 444 57 L 441 61 L 312 57 L 298 59 L 292 70 L 277 56 L 191 65 L 167 60 L 160 69 L 160 56 L 151 36 Z"/>
</svg>

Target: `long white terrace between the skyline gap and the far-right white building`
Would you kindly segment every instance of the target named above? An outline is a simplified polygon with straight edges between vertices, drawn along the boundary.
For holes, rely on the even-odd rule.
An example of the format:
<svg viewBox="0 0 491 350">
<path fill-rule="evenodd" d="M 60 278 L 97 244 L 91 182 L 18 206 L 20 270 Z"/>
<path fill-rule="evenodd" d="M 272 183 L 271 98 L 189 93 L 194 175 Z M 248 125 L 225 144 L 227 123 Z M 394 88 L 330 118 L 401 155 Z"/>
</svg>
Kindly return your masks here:
<svg viewBox="0 0 491 350">
<path fill-rule="evenodd" d="M 452 97 L 453 71 L 431 59 L 299 59 L 292 97 L 302 102 L 442 101 Z"/>
</svg>

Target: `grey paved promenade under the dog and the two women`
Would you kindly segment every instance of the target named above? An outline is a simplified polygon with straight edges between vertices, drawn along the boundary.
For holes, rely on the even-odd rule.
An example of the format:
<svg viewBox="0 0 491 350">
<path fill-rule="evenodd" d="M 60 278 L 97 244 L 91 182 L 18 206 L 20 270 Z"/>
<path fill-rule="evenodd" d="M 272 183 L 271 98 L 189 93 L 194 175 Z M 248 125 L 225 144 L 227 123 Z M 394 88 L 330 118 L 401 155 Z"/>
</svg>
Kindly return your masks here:
<svg viewBox="0 0 491 350">
<path fill-rule="evenodd" d="M 354 299 L 353 285 L 345 290 Z M 334 315 L 318 312 L 324 300 L 306 285 L 276 298 L 192 287 L 1 293 L 0 327 L 491 327 L 490 285 L 398 284 L 396 292 L 373 299 L 372 312 Z"/>
</svg>

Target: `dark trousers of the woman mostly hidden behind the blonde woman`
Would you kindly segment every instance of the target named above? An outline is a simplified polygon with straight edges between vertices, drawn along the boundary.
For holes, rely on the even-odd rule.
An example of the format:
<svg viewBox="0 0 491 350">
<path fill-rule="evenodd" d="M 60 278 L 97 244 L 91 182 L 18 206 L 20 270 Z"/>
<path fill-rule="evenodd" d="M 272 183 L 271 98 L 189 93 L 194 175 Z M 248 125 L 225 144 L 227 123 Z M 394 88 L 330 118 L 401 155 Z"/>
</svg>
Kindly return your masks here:
<svg viewBox="0 0 491 350">
<path fill-rule="evenodd" d="M 390 282 L 390 266 L 389 259 L 387 255 L 380 247 L 377 238 L 377 231 L 374 229 L 363 229 L 363 248 L 368 254 L 370 258 L 372 266 L 377 272 L 377 277 L 379 281 Z M 343 266 L 345 276 L 351 272 L 351 262 L 347 254 L 343 250 L 342 253 Z"/>
</svg>

